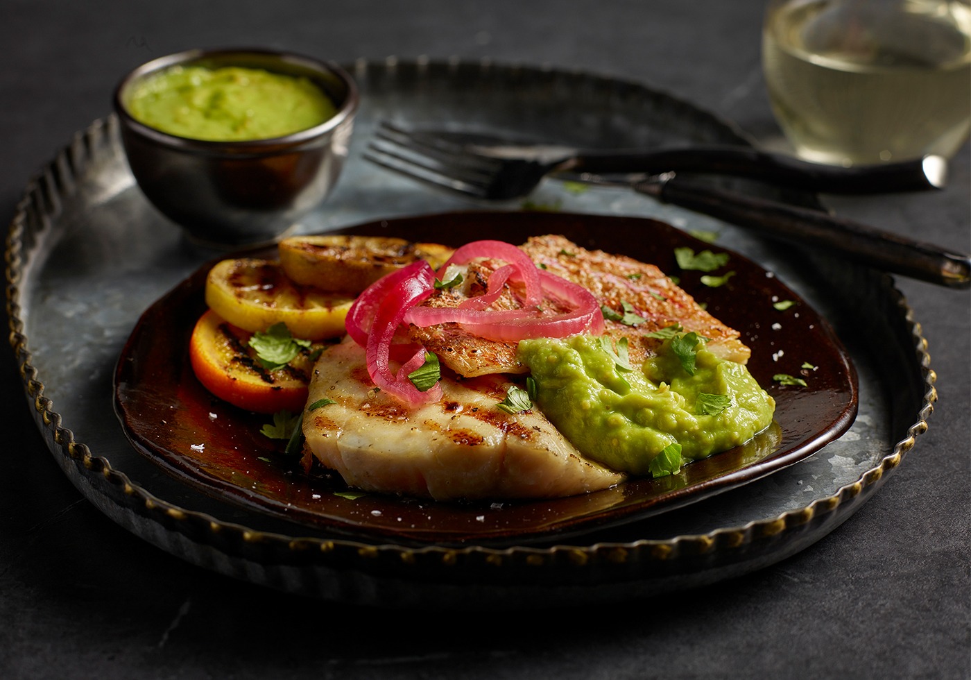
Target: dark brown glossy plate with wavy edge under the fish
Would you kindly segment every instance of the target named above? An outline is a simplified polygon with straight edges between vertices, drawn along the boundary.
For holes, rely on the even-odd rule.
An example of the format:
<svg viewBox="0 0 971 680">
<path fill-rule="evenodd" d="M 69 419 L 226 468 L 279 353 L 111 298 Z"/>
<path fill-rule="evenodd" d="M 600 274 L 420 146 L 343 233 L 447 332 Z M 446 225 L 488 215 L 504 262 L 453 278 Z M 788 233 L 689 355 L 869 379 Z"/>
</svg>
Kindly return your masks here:
<svg viewBox="0 0 971 680">
<path fill-rule="evenodd" d="M 469 212 L 376 221 L 343 233 L 401 236 L 458 246 L 464 235 L 521 243 L 559 233 L 586 248 L 653 262 L 738 329 L 752 348 L 750 370 L 776 399 L 775 423 L 753 442 L 693 462 L 681 474 L 635 479 L 613 489 L 541 501 L 434 503 L 369 493 L 349 498 L 339 478 L 303 475 L 283 457 L 283 443 L 260 433 L 270 417 L 213 397 L 188 362 L 188 337 L 205 310 L 212 263 L 200 267 L 141 317 L 117 363 L 116 412 L 135 448 L 204 493 L 308 528 L 360 537 L 394 537 L 417 544 L 521 545 L 588 533 L 640 520 L 741 486 L 806 459 L 853 424 L 857 378 L 849 354 L 829 323 L 742 255 L 728 252 L 727 285 L 708 288 L 699 272 L 680 271 L 674 249 L 725 249 L 651 219 L 561 213 Z M 468 239 L 468 240 L 471 240 Z M 253 254 L 250 252 L 249 254 Z M 273 251 L 262 255 L 273 256 Z M 780 311 L 773 303 L 791 300 Z M 815 366 L 802 368 L 804 362 Z M 773 376 L 803 377 L 806 387 Z M 336 477 L 336 476 L 335 476 Z"/>
</svg>

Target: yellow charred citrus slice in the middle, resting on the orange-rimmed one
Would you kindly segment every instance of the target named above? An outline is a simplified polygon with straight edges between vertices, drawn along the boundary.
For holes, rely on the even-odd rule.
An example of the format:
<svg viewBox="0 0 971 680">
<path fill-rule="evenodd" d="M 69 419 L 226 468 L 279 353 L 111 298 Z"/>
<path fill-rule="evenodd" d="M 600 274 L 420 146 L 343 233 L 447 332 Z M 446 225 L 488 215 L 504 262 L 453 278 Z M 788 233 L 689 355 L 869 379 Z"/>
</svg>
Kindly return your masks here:
<svg viewBox="0 0 971 680">
<path fill-rule="evenodd" d="M 320 340 L 344 333 L 353 298 L 294 284 L 279 262 L 224 259 L 206 280 L 206 304 L 222 319 L 250 332 L 285 323 L 293 337 Z"/>
</svg>

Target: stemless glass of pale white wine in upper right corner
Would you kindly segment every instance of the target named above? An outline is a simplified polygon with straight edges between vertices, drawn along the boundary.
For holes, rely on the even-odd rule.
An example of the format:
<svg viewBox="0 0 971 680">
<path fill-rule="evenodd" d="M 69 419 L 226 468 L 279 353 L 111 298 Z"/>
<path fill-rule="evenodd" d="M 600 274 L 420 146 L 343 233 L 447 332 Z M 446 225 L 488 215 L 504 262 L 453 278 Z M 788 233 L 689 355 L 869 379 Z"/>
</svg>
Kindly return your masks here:
<svg viewBox="0 0 971 680">
<path fill-rule="evenodd" d="M 953 155 L 971 128 L 971 0 L 771 0 L 762 63 L 796 153 Z"/>
</svg>

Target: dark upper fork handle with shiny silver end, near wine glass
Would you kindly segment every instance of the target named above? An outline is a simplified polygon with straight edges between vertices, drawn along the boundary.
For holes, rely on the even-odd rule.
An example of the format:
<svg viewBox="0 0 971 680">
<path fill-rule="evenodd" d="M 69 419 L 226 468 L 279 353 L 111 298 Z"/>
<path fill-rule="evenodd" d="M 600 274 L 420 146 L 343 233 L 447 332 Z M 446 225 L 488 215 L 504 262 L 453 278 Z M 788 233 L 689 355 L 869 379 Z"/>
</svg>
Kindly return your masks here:
<svg viewBox="0 0 971 680">
<path fill-rule="evenodd" d="M 582 152 L 560 170 L 572 172 L 700 172 L 761 180 L 776 187 L 821 193 L 891 193 L 941 188 L 947 160 L 937 155 L 876 165 L 841 167 L 801 160 L 785 153 L 730 146 L 661 149 L 645 152 Z"/>
</svg>

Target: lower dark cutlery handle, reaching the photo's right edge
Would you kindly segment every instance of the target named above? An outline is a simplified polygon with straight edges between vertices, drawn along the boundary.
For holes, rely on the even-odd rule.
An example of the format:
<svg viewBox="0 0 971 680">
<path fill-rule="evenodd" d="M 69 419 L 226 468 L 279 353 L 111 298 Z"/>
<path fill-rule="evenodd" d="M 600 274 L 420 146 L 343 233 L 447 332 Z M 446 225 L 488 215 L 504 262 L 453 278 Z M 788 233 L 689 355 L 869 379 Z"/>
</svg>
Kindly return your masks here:
<svg viewBox="0 0 971 680">
<path fill-rule="evenodd" d="M 971 287 L 971 256 L 913 241 L 860 222 L 677 177 L 660 177 L 634 189 L 744 226 L 773 239 L 826 248 L 877 269 L 954 289 Z"/>
</svg>

